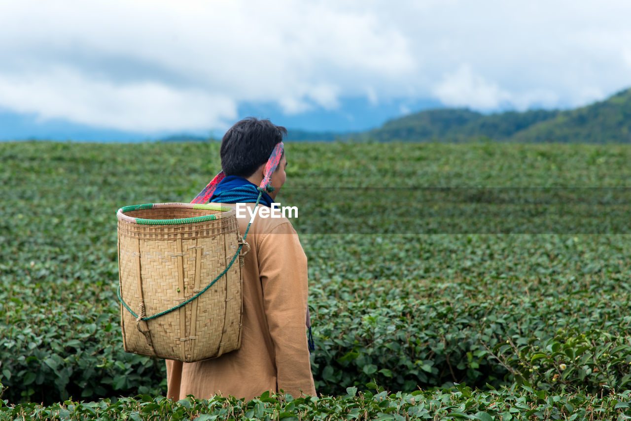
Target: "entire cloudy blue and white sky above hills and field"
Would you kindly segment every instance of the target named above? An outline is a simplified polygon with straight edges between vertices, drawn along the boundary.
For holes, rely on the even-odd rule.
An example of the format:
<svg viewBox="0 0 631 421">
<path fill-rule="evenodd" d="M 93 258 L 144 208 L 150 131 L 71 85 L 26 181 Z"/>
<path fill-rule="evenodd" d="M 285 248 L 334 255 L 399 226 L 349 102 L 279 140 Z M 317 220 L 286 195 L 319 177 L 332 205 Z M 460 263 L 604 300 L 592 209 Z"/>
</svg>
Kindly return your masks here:
<svg viewBox="0 0 631 421">
<path fill-rule="evenodd" d="M 628 16 L 627 0 L 0 0 L 0 139 L 579 107 L 631 86 Z"/>
</svg>

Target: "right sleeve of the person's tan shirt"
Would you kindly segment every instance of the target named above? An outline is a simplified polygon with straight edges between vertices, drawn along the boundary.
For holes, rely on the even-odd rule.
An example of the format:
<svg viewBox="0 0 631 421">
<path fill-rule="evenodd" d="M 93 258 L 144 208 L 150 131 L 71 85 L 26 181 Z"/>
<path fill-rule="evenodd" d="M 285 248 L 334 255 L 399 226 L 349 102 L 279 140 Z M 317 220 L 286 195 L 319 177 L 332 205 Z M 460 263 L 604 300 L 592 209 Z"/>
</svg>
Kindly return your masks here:
<svg viewBox="0 0 631 421">
<path fill-rule="evenodd" d="M 315 395 L 307 344 L 307 257 L 290 222 L 276 226 L 257 250 L 263 306 L 274 345 L 278 390 Z"/>
</svg>

